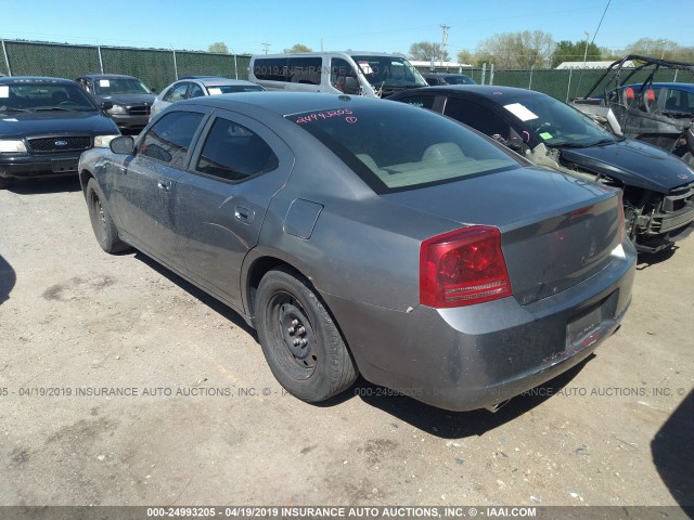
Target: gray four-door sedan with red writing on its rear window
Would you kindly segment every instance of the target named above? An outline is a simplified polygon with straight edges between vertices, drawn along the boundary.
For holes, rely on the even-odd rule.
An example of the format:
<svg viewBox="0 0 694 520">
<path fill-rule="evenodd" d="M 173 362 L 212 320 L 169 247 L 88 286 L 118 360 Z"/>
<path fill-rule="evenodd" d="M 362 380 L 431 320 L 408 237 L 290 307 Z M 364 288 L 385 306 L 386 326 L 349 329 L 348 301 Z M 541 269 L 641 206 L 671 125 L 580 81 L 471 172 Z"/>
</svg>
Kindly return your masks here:
<svg viewBox="0 0 694 520">
<path fill-rule="evenodd" d="M 584 360 L 631 300 L 618 191 L 400 103 L 183 101 L 79 169 L 102 248 L 134 247 L 234 309 L 308 402 L 361 373 L 493 410 Z"/>
</svg>

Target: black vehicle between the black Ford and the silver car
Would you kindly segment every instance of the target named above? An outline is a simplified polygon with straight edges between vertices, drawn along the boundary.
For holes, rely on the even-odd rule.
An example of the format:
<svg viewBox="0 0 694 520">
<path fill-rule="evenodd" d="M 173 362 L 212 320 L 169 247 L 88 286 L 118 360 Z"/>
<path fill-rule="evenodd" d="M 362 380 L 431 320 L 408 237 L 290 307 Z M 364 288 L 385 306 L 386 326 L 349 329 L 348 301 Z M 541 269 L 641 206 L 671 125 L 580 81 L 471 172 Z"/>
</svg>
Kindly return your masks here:
<svg viewBox="0 0 694 520">
<path fill-rule="evenodd" d="M 132 76 L 119 74 L 90 74 L 76 79 L 97 104 L 112 103 L 104 112 L 124 133 L 138 133 L 150 121 L 154 103 L 153 90 Z"/>
</svg>

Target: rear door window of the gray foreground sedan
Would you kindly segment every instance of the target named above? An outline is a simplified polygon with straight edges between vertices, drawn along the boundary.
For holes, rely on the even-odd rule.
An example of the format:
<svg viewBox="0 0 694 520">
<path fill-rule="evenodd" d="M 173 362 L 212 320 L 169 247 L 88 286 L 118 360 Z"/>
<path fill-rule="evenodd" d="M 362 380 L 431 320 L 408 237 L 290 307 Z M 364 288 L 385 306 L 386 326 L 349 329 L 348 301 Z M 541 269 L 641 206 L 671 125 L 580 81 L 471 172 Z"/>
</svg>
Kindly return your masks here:
<svg viewBox="0 0 694 520">
<path fill-rule="evenodd" d="M 278 166 L 277 155 L 262 138 L 242 125 L 217 118 L 195 169 L 226 181 L 242 181 Z"/>
</svg>

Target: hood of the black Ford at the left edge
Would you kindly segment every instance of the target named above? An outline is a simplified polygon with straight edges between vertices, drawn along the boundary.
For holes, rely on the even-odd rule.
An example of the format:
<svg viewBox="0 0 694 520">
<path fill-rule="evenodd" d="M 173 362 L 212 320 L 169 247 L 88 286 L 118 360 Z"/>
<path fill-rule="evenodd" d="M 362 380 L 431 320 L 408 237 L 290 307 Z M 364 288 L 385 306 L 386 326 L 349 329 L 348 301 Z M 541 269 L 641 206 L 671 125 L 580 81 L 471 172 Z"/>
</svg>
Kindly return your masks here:
<svg viewBox="0 0 694 520">
<path fill-rule="evenodd" d="M 0 136 L 46 134 L 118 134 L 115 123 L 100 112 L 29 112 L 0 115 Z"/>
</svg>

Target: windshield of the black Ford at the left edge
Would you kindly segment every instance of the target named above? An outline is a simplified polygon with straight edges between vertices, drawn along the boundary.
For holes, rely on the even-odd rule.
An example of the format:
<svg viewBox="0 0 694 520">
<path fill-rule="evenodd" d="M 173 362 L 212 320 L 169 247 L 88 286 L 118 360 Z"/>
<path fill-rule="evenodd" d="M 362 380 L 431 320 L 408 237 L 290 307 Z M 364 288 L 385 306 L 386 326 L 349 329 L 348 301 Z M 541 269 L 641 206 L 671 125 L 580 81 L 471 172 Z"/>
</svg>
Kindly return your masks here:
<svg viewBox="0 0 694 520">
<path fill-rule="evenodd" d="M 78 86 L 41 81 L 0 84 L 0 112 L 98 110 Z"/>
</svg>

